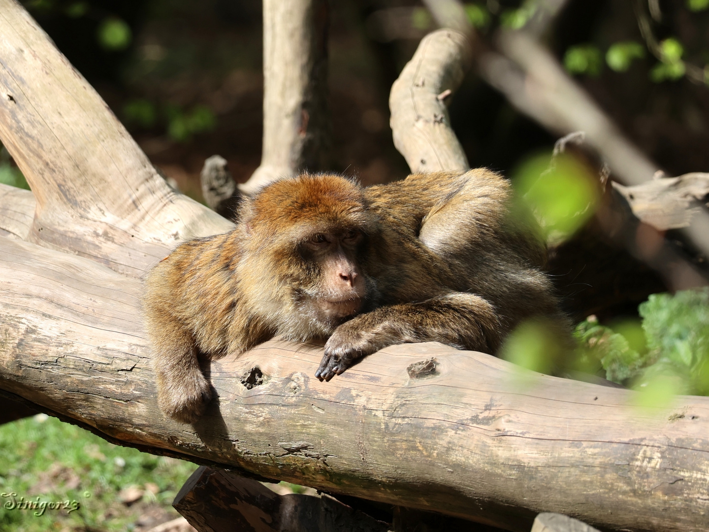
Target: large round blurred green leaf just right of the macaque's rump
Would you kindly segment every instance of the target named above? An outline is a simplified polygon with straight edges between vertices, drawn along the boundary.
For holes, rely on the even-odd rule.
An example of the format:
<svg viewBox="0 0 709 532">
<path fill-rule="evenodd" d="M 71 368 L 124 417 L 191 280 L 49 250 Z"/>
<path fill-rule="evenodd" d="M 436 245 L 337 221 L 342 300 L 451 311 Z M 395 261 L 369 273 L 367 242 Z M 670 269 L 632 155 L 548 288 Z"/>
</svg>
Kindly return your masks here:
<svg viewBox="0 0 709 532">
<path fill-rule="evenodd" d="M 593 215 L 598 201 L 596 179 L 578 160 L 538 155 L 514 172 L 518 198 L 539 221 L 547 241 L 569 238 Z"/>
</svg>

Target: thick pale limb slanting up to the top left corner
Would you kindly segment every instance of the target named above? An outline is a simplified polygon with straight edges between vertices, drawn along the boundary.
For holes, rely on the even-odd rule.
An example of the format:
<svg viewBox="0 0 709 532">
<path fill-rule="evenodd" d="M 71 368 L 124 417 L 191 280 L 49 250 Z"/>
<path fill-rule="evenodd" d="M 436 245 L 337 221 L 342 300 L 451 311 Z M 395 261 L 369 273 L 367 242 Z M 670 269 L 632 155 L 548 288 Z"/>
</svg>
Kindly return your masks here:
<svg viewBox="0 0 709 532">
<path fill-rule="evenodd" d="M 138 277 L 179 240 L 231 226 L 169 189 L 15 0 L 0 0 L 0 140 L 34 192 L 34 243 Z"/>
</svg>

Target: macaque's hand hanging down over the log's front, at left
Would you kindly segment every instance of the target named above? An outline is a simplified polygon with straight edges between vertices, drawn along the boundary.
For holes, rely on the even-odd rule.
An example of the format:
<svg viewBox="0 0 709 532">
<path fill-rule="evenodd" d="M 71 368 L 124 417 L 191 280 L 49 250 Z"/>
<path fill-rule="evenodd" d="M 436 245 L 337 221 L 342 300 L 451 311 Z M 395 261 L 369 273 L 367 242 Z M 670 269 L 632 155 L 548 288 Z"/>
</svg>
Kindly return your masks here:
<svg viewBox="0 0 709 532">
<path fill-rule="evenodd" d="M 201 372 L 157 376 L 157 402 L 164 414 L 180 423 L 197 421 L 212 399 L 212 390 Z"/>
</svg>

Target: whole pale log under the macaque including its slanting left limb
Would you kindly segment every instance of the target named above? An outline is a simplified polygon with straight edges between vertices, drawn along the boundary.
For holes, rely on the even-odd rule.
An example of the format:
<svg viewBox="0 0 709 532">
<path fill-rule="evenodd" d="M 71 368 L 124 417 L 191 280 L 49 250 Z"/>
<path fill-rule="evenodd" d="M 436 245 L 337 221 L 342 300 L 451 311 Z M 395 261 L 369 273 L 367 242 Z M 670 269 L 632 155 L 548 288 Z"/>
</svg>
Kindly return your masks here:
<svg viewBox="0 0 709 532">
<path fill-rule="evenodd" d="M 219 397 L 199 423 L 164 419 L 137 277 L 230 223 L 169 190 L 13 0 L 0 36 L 0 138 L 36 201 L 27 241 L 0 238 L 1 389 L 144 450 L 513 531 L 539 511 L 705 529 L 707 398 L 640 411 L 633 392 L 439 344 L 386 348 L 320 382 L 322 348 L 271 341 L 206 368 Z M 408 371 L 432 358 L 432 374 Z"/>
</svg>

